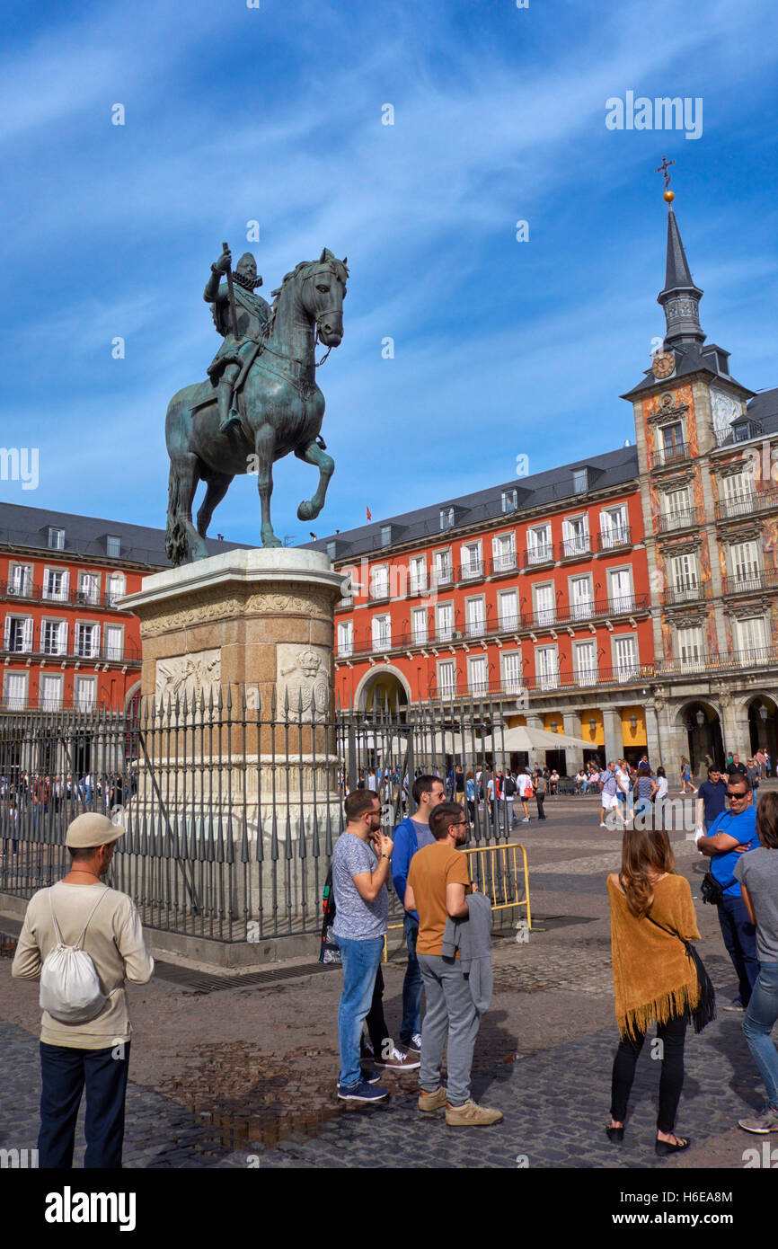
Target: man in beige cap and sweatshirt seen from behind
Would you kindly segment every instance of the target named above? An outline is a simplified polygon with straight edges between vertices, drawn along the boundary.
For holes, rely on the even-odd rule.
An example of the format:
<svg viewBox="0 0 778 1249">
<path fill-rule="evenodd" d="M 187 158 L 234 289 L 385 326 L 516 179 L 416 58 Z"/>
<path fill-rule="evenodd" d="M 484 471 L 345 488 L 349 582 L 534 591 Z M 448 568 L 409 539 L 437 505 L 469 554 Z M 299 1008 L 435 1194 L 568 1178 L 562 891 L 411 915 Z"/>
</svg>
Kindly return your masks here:
<svg viewBox="0 0 778 1249">
<path fill-rule="evenodd" d="M 154 959 L 144 944 L 132 899 L 100 881 L 124 832 L 95 812 L 74 819 L 65 837 L 70 872 L 50 889 L 34 894 L 19 937 L 12 975 L 40 979 L 44 960 L 52 949 L 77 943 L 91 958 L 100 990 L 107 999 L 85 1023 L 62 1023 L 44 1010 L 39 1167 L 72 1167 L 84 1088 L 84 1165 L 121 1167 L 132 1032 L 124 985 L 125 980 L 146 984 L 154 974 Z"/>
</svg>

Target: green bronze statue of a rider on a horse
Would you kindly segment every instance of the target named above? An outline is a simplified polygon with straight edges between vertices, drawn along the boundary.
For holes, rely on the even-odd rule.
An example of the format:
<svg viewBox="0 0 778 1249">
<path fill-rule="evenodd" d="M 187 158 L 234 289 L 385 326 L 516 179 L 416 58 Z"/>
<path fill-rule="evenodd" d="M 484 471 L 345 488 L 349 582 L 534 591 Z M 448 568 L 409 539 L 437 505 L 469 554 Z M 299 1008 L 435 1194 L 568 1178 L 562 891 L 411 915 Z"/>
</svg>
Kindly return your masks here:
<svg viewBox="0 0 778 1249">
<path fill-rule="evenodd" d="M 325 397 L 316 385 L 315 348 L 322 342 L 328 355 L 343 337 L 347 277 L 346 259 L 337 260 L 325 247 L 318 260 L 303 260 L 286 275 L 271 306 L 255 294 L 262 279 L 250 252 L 232 271 L 225 244 L 211 265 L 204 299 L 224 342 L 209 366 L 209 381 L 174 395 L 165 422 L 165 548 L 172 563 L 207 557 L 214 508 L 239 473 L 257 473 L 262 546 L 281 546 L 270 521 L 272 466 L 290 451 L 318 468 L 318 486 L 300 503 L 298 518 L 312 521 L 321 512 L 335 461 L 320 433 Z M 206 492 L 195 526 L 192 501 L 200 481 Z"/>
</svg>

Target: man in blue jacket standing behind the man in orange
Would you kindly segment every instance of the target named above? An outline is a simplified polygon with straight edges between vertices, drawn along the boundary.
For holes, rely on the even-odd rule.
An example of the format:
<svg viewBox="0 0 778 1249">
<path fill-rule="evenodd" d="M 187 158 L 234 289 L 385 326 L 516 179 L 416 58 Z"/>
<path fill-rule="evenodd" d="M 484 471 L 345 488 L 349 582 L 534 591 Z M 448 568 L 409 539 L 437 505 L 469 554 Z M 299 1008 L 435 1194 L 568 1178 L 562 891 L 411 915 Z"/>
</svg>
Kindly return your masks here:
<svg viewBox="0 0 778 1249">
<path fill-rule="evenodd" d="M 397 824 L 393 832 L 395 851 L 392 854 L 392 882 L 397 897 L 402 902 L 408 883 L 411 859 L 422 846 L 432 846 L 435 837 L 430 832 L 430 812 L 441 802 L 446 802 L 446 789 L 438 777 L 416 777 L 411 797 L 417 809 Z M 416 958 L 416 938 L 418 937 L 418 914 L 406 911 L 403 921 L 405 939 L 408 948 L 408 965 L 402 984 L 402 1027 L 400 1044 L 403 1049 L 413 1049 L 421 1054 L 421 989 L 422 979 Z"/>
</svg>

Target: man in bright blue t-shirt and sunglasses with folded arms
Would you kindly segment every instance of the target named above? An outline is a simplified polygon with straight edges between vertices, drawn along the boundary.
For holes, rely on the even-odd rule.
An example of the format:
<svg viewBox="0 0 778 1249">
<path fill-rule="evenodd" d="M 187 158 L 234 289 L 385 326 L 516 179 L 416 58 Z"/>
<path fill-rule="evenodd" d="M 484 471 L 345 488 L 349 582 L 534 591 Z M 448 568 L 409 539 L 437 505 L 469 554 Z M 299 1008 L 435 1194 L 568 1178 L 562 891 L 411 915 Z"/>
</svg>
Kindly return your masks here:
<svg viewBox="0 0 778 1249">
<path fill-rule="evenodd" d="M 748 777 L 733 773 L 727 782 L 729 811 L 713 821 L 707 836 L 697 833 L 697 849 L 711 859 L 711 872 L 724 891 L 718 903 L 718 922 L 727 953 L 734 964 L 739 994 L 724 1010 L 744 1010 L 759 974 L 757 929 L 743 902 L 734 864 L 741 854 L 757 849 L 757 812 Z"/>
</svg>

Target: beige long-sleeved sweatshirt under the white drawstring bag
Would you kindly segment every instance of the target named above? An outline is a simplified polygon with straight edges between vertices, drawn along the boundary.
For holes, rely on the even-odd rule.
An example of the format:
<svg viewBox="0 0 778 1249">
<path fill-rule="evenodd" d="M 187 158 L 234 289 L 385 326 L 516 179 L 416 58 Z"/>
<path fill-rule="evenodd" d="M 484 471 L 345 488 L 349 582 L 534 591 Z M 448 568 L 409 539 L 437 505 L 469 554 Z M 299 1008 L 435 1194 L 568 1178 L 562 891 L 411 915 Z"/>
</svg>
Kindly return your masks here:
<svg viewBox="0 0 778 1249">
<path fill-rule="evenodd" d="M 154 959 L 144 944 L 144 931 L 135 904 L 126 893 L 104 884 L 65 884 L 51 889 L 51 904 L 66 945 L 72 945 L 101 893 L 102 898 L 89 922 L 82 948 L 95 964 L 100 988 L 109 998 L 96 1019 L 87 1023 L 60 1023 L 47 1010 L 41 1018 L 40 1039 L 47 1045 L 74 1049 L 107 1049 L 130 1040 L 132 1025 L 127 1014 L 125 979 L 146 984 L 154 975 Z M 56 936 L 49 906 L 49 889 L 30 898 L 16 945 L 11 975 L 22 980 L 40 979 L 40 970 Z"/>
</svg>

